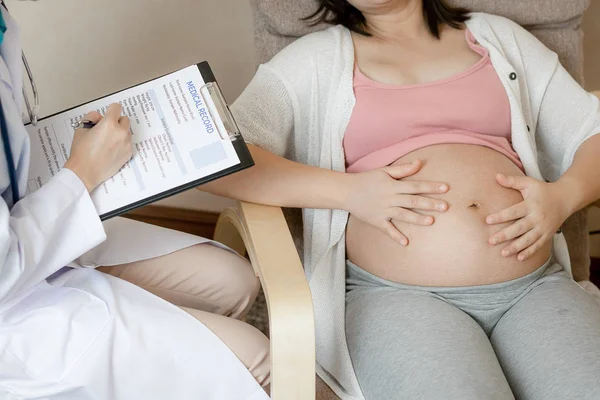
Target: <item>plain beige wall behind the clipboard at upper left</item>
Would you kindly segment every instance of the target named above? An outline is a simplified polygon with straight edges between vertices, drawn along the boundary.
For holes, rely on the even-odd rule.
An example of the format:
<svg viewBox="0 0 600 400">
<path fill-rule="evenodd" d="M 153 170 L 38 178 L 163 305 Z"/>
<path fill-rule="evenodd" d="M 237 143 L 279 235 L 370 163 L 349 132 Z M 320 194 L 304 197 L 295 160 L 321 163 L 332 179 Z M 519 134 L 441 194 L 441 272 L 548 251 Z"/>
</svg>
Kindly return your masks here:
<svg viewBox="0 0 600 400">
<path fill-rule="evenodd" d="M 208 60 L 229 101 L 254 74 L 245 0 L 7 0 L 41 95 L 42 115 Z M 218 211 L 198 191 L 162 204 Z"/>
</svg>

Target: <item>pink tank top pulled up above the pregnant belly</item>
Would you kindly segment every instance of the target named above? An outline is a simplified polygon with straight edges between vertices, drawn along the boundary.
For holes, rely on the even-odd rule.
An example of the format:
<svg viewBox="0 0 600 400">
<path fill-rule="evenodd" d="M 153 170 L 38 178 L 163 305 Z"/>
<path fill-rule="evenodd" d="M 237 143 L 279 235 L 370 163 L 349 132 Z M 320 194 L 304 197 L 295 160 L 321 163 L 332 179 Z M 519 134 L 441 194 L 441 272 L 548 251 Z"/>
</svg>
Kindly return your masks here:
<svg viewBox="0 0 600 400">
<path fill-rule="evenodd" d="M 398 86 L 355 68 L 356 105 L 343 142 L 347 172 L 385 167 L 412 151 L 448 143 L 489 147 L 523 169 L 512 148 L 506 90 L 487 50 L 469 30 L 465 35 L 482 59 L 450 78 Z"/>
</svg>

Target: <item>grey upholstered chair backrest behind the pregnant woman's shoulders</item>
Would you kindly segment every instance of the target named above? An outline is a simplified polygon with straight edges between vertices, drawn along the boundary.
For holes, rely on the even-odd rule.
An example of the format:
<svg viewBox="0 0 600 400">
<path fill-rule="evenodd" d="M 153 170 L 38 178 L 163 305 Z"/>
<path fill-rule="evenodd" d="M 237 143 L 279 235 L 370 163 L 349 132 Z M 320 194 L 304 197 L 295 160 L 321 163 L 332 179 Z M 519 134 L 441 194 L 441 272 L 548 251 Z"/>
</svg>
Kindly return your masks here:
<svg viewBox="0 0 600 400">
<path fill-rule="evenodd" d="M 254 13 L 258 62 L 270 60 L 283 47 L 327 25 L 310 27 L 302 18 L 312 14 L 315 0 L 250 0 Z M 583 83 L 583 32 L 581 22 L 590 0 L 447 0 L 454 6 L 508 17 L 536 35 L 555 51 L 565 68 Z M 289 214 L 288 214 L 289 215 Z M 299 237 L 297 216 L 288 219 Z M 563 230 L 569 243 L 575 277 L 589 277 L 586 213 L 567 221 Z M 300 242 L 297 240 L 300 246 Z"/>
</svg>

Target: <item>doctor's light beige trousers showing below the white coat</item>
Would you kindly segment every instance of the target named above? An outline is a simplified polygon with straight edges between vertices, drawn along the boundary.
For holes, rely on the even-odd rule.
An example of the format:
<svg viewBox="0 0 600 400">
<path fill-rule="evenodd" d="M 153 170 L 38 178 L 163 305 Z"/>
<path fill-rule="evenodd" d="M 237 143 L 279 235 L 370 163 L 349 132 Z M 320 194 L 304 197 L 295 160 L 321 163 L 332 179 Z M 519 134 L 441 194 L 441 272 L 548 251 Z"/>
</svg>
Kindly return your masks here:
<svg viewBox="0 0 600 400">
<path fill-rule="evenodd" d="M 217 335 L 263 387 L 270 382 L 269 340 L 240 321 L 260 284 L 250 263 L 211 244 L 98 270 L 173 303 Z"/>
</svg>

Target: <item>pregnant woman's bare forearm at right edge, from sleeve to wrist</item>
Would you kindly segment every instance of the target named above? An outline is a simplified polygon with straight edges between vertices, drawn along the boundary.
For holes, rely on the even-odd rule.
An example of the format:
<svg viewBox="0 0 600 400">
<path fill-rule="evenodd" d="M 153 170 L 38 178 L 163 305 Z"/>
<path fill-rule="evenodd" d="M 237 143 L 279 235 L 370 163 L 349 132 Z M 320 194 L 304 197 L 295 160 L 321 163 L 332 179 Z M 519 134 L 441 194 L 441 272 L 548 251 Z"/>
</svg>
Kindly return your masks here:
<svg viewBox="0 0 600 400">
<path fill-rule="evenodd" d="M 557 184 L 562 187 L 569 215 L 600 199 L 600 135 L 583 142 Z"/>
</svg>

